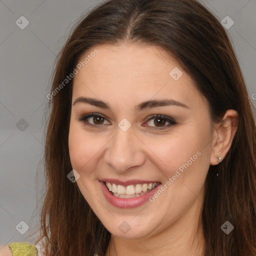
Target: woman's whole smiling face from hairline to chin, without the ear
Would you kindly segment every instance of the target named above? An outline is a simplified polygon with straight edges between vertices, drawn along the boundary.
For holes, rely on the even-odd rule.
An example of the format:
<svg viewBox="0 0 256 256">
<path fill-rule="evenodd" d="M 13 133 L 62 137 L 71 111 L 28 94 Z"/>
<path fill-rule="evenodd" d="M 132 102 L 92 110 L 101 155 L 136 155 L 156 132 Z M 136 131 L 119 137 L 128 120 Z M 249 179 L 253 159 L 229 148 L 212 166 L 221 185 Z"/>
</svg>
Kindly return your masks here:
<svg viewBox="0 0 256 256">
<path fill-rule="evenodd" d="M 95 48 L 81 58 L 87 60 L 76 68 L 72 92 L 69 154 L 82 195 L 119 237 L 153 236 L 177 223 L 190 228 L 212 154 L 205 101 L 155 46 Z M 162 100 L 179 103 L 142 104 Z"/>
</svg>

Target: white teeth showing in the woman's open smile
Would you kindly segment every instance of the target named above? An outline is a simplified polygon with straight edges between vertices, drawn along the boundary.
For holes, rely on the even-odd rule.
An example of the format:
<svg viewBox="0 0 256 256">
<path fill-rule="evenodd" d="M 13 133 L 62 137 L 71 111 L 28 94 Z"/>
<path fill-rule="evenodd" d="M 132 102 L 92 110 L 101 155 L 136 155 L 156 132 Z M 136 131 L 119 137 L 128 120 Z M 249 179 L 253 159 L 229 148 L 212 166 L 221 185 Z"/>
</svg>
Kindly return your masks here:
<svg viewBox="0 0 256 256">
<path fill-rule="evenodd" d="M 154 189 L 158 184 L 160 184 L 160 182 L 123 186 L 119 184 L 105 182 L 105 186 L 108 188 L 109 192 L 113 196 L 119 198 L 138 197 L 142 194 L 148 193 L 149 191 Z"/>
</svg>

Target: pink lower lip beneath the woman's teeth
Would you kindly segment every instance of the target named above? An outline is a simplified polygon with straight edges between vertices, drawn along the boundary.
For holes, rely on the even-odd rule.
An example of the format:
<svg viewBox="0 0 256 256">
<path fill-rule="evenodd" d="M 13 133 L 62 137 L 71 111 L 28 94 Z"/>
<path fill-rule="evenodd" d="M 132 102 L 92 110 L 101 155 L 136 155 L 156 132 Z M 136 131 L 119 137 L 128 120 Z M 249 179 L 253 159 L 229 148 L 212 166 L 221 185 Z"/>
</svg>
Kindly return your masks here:
<svg viewBox="0 0 256 256">
<path fill-rule="evenodd" d="M 151 191 L 145 194 L 142 194 L 138 197 L 120 198 L 112 195 L 112 193 L 106 187 L 105 182 L 99 180 L 99 183 L 101 185 L 101 188 L 106 200 L 110 202 L 113 206 L 118 208 L 133 208 L 145 203 L 146 201 L 149 200 L 149 197 L 155 193 L 156 189 L 161 185 L 161 184 L 158 184 Z"/>
</svg>

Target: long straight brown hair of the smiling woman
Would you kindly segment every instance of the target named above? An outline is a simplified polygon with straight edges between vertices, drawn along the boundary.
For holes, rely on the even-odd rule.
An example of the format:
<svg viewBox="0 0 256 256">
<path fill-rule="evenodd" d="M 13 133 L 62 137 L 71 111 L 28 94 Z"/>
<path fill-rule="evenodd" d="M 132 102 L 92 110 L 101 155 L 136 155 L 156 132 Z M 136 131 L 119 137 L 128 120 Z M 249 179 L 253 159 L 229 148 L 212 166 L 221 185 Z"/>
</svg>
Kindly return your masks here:
<svg viewBox="0 0 256 256">
<path fill-rule="evenodd" d="M 72 170 L 68 129 L 73 79 L 57 92 L 56 88 L 89 49 L 123 41 L 159 46 L 178 60 L 207 99 L 213 121 L 221 121 L 227 109 L 238 112 L 237 131 L 226 157 L 209 167 L 199 224 L 205 256 L 256 256 L 254 108 L 225 29 L 195 0 L 108 0 L 72 29 L 57 56 L 49 97 L 46 193 L 36 240 L 42 241 L 44 256 L 105 255 L 110 233 L 76 182 L 67 178 Z M 229 234 L 220 228 L 227 220 L 234 226 Z"/>
</svg>

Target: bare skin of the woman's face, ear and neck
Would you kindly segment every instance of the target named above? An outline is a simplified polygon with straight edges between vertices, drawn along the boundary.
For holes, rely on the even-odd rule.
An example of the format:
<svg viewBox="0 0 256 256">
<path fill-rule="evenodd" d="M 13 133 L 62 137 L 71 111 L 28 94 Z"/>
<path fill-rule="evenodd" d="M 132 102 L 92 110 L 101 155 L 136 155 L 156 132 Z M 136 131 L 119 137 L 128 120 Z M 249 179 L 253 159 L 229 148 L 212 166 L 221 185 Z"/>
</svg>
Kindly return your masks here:
<svg viewBox="0 0 256 256">
<path fill-rule="evenodd" d="M 122 43 L 94 48 L 99 52 L 74 77 L 72 103 L 80 96 L 93 97 L 108 102 L 112 111 L 85 103 L 72 105 L 68 139 L 71 164 L 80 175 L 77 185 L 111 233 L 106 255 L 203 255 L 201 226 L 196 236 L 195 232 L 204 180 L 209 165 L 219 164 L 217 156 L 223 159 L 231 146 L 237 112 L 229 109 L 222 125 L 212 123 L 206 100 L 189 75 L 156 46 Z M 183 72 L 176 81 L 169 75 L 174 67 Z M 135 110 L 141 101 L 163 98 L 189 108 Z M 77 120 L 91 112 L 105 119 L 95 123 L 89 117 L 87 122 L 96 127 Z M 153 114 L 169 116 L 176 124 L 168 126 L 165 119 L 165 128 L 157 126 L 157 118 L 146 119 Z M 123 118 L 131 124 L 125 132 L 118 126 Z M 101 191 L 98 180 L 103 178 L 164 184 L 197 151 L 200 156 L 154 202 L 121 209 L 106 201 Z M 125 234 L 118 229 L 123 221 L 130 225 Z"/>
</svg>

